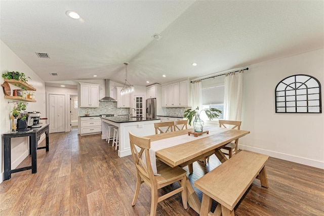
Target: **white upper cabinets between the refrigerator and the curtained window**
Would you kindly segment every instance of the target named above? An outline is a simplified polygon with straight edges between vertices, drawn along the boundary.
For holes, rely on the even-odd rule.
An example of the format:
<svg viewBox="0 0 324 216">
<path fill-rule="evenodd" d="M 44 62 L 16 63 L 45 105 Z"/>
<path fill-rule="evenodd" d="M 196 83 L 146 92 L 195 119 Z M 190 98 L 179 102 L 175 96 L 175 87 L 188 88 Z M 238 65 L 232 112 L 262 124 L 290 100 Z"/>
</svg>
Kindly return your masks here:
<svg viewBox="0 0 324 216">
<path fill-rule="evenodd" d="M 161 106 L 186 107 L 190 105 L 190 81 L 182 79 L 162 86 Z"/>
</svg>

